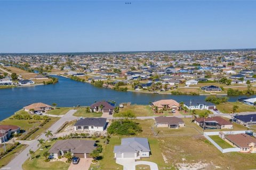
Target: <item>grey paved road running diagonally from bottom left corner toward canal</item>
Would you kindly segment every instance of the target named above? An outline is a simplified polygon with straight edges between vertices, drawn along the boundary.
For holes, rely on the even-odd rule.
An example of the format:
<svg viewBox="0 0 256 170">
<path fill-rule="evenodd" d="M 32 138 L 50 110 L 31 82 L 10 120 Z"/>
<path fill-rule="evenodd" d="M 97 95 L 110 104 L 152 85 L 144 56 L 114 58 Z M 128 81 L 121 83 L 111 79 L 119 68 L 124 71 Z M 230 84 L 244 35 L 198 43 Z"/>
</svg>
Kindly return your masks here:
<svg viewBox="0 0 256 170">
<path fill-rule="evenodd" d="M 67 112 L 63 117 L 61 117 L 57 122 L 55 122 L 48 130 L 52 131 L 53 133 L 56 132 L 60 126 L 65 123 L 66 121 L 75 120 L 77 117 L 73 116 L 73 114 L 76 112 L 76 110 L 72 109 Z M 37 139 L 44 139 L 47 140 L 45 137 L 45 134 L 42 134 Z M 38 141 L 34 140 L 34 142 L 30 143 L 30 145 L 20 152 L 20 154 L 15 157 L 8 165 L 6 165 L 2 169 L 13 169 L 13 170 L 22 170 L 22 164 L 29 158 L 27 155 L 29 152 L 29 149 L 36 151 L 38 149 Z"/>
</svg>

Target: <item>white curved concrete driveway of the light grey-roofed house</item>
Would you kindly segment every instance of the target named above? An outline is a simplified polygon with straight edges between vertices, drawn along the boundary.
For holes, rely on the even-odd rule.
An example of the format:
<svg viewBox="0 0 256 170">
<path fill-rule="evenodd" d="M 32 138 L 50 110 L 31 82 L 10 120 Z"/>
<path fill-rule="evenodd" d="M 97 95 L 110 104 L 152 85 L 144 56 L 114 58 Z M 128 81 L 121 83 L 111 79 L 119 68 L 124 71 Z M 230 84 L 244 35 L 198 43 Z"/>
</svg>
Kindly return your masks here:
<svg viewBox="0 0 256 170">
<path fill-rule="evenodd" d="M 149 165 L 151 170 L 158 170 L 157 164 L 148 161 L 137 161 L 133 158 L 117 158 L 116 163 L 124 166 L 124 170 L 135 170 L 136 165 Z"/>
</svg>

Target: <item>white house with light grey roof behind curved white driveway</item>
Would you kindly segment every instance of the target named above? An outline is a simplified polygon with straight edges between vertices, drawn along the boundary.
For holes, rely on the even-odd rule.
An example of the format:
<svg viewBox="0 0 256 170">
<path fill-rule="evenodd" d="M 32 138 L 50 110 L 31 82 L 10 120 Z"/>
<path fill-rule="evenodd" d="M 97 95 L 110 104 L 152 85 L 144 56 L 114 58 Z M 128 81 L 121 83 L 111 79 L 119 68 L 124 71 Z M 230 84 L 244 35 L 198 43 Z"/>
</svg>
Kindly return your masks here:
<svg viewBox="0 0 256 170">
<path fill-rule="evenodd" d="M 150 147 L 147 138 L 122 138 L 121 145 L 114 147 L 116 158 L 149 157 Z"/>
</svg>

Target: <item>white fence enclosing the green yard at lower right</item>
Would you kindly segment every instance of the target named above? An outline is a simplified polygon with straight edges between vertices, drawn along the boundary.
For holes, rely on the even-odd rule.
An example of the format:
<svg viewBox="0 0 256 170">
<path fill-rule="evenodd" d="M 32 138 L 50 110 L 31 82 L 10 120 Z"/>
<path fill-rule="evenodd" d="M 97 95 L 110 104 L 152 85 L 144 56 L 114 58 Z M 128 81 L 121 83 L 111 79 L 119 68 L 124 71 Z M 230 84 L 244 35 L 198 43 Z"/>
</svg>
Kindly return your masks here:
<svg viewBox="0 0 256 170">
<path fill-rule="evenodd" d="M 222 131 L 222 133 L 225 134 L 239 134 L 239 133 L 245 133 L 245 131 Z M 211 135 L 219 135 L 219 132 L 204 132 L 204 137 L 209 140 L 217 149 L 219 149 L 222 153 L 226 152 L 238 152 L 240 151 L 240 148 L 227 148 L 222 149 L 214 140 L 212 140 L 209 136 Z"/>
</svg>

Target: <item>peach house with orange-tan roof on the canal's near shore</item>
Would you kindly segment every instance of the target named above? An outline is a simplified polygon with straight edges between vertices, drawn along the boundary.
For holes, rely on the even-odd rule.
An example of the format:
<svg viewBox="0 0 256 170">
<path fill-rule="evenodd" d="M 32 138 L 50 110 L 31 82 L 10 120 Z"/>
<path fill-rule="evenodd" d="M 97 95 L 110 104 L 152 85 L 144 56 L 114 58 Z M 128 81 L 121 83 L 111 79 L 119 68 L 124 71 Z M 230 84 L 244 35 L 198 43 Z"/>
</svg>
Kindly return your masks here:
<svg viewBox="0 0 256 170">
<path fill-rule="evenodd" d="M 159 110 L 162 109 L 175 109 L 178 110 L 180 104 L 172 99 L 158 100 L 152 103 L 153 106 L 157 106 Z M 154 108 L 154 107 L 153 107 Z"/>
</svg>

